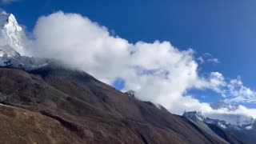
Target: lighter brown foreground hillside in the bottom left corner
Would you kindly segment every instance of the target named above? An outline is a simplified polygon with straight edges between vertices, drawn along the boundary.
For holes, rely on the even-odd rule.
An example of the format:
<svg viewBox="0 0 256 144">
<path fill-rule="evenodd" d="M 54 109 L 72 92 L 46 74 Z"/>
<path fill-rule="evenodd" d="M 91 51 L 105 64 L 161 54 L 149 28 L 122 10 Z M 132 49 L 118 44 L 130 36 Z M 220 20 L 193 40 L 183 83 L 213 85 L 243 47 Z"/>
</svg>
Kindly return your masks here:
<svg viewBox="0 0 256 144">
<path fill-rule="evenodd" d="M 52 118 L 14 106 L 0 104 L 0 143 L 82 143 Z"/>
</svg>

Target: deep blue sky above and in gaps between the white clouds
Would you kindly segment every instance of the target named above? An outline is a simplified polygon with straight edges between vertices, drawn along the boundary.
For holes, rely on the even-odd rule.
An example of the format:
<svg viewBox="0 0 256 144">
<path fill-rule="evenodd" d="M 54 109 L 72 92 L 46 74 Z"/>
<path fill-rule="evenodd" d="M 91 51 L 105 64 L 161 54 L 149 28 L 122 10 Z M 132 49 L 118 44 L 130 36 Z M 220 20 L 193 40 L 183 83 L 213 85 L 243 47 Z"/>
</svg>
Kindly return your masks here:
<svg viewBox="0 0 256 144">
<path fill-rule="evenodd" d="M 221 72 L 227 79 L 242 78 L 243 85 L 256 89 L 256 1 L 234 0 L 20 0 L 2 4 L 18 22 L 32 32 L 38 18 L 58 10 L 78 13 L 106 26 L 110 33 L 131 43 L 169 41 L 179 50 L 193 49 L 195 59 L 205 53 L 216 62 L 200 64 L 199 75 Z M 114 82 L 118 89 L 122 79 Z M 201 102 L 222 96 L 211 90 L 190 90 Z M 244 106 L 255 108 L 254 103 Z"/>
</svg>

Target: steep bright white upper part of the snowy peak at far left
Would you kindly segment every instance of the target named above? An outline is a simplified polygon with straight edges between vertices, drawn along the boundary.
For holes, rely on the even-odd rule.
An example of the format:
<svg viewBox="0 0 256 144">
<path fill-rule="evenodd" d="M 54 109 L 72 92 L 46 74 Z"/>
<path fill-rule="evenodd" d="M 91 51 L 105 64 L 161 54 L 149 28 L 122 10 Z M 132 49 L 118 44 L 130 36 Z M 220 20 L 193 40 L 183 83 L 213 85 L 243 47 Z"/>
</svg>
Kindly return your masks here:
<svg viewBox="0 0 256 144">
<path fill-rule="evenodd" d="M 8 14 L 0 9 L 0 43 L 1 46 L 9 45 L 23 54 L 23 42 L 25 39 L 22 27 L 18 25 L 14 14 Z"/>
</svg>

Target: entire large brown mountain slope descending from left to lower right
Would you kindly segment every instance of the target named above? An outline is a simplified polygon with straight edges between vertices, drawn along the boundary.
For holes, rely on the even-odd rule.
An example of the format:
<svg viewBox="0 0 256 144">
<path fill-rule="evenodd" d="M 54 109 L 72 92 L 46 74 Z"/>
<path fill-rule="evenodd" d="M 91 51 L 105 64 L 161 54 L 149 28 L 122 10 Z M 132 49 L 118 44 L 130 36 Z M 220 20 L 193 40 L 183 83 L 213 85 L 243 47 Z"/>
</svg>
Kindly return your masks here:
<svg viewBox="0 0 256 144">
<path fill-rule="evenodd" d="M 0 141 L 226 143 L 186 118 L 127 97 L 89 74 L 53 67 L 29 72 L 0 68 Z"/>
</svg>

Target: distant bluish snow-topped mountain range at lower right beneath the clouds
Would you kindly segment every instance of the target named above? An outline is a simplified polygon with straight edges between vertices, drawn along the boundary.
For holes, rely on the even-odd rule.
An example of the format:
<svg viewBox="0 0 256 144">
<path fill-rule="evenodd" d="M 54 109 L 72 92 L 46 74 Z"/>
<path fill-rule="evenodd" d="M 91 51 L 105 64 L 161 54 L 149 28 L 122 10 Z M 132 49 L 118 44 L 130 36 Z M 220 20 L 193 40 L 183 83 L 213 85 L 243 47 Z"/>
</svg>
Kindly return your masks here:
<svg viewBox="0 0 256 144">
<path fill-rule="evenodd" d="M 256 142 L 256 121 L 254 118 L 232 118 L 231 122 L 218 119 L 206 118 L 201 112 L 190 111 L 183 114 L 206 130 L 217 134 L 230 143 L 251 143 Z M 234 119 L 237 121 L 234 122 Z"/>
</svg>

